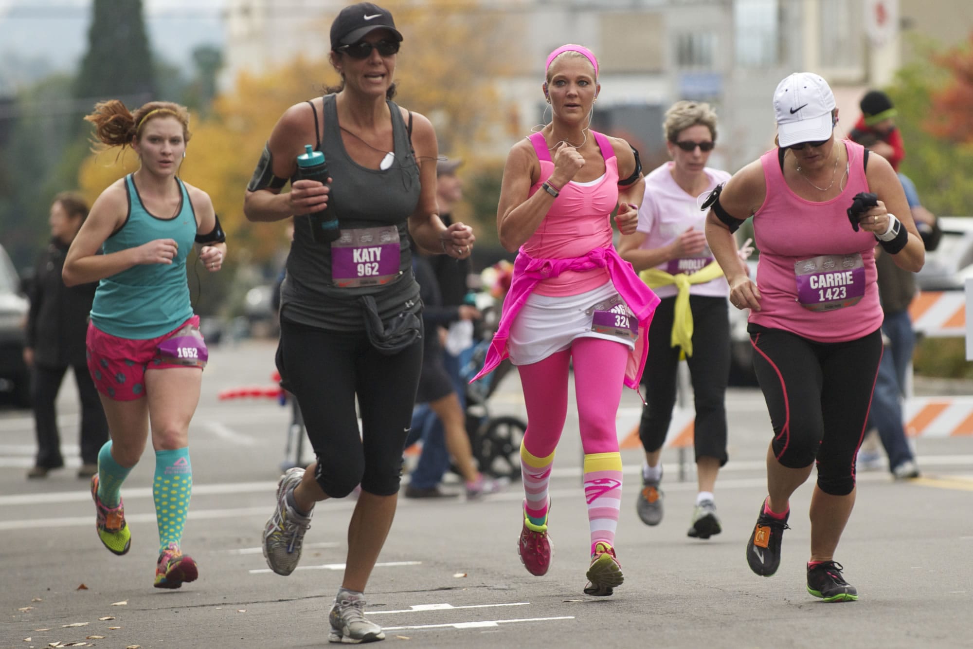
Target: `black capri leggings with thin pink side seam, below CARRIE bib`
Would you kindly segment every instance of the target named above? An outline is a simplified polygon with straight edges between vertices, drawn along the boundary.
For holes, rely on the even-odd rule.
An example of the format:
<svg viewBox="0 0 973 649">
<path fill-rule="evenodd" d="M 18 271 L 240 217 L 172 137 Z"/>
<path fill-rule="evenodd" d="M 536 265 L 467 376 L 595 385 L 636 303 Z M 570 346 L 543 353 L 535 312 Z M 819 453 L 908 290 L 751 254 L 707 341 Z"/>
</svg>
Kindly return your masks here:
<svg viewBox="0 0 973 649">
<path fill-rule="evenodd" d="M 818 343 L 759 325 L 747 330 L 777 461 L 802 469 L 816 458 L 821 491 L 851 493 L 882 360 L 881 329 L 843 343 Z"/>
</svg>

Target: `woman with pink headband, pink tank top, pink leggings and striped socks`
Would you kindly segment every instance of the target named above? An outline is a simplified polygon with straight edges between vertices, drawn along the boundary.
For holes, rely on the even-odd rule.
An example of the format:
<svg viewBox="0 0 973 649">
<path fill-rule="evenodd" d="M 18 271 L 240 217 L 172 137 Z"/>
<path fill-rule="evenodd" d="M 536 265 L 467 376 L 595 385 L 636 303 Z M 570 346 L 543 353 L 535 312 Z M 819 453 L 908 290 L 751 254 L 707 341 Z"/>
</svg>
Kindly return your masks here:
<svg viewBox="0 0 973 649">
<path fill-rule="evenodd" d="M 585 592 L 604 596 L 623 582 L 614 547 L 622 488 L 615 415 L 623 383 L 637 387 L 659 299 L 612 247 L 610 215 L 618 208 L 619 230 L 633 233 L 643 182 L 628 142 L 589 128 L 597 72 L 587 48 L 552 52 L 543 90 L 553 119 L 507 158 L 497 229 L 504 248 L 519 253 L 484 372 L 508 355 L 520 370 L 527 430 L 518 553 L 539 576 L 551 561 L 548 485 L 573 362 L 591 529 Z"/>
</svg>

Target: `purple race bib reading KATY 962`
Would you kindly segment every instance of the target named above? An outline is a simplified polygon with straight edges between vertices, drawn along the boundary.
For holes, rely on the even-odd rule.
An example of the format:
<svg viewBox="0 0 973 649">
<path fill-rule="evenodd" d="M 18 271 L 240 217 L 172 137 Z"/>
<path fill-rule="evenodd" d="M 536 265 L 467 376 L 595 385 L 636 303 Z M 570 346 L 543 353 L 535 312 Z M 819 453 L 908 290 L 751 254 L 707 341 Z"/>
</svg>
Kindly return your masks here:
<svg viewBox="0 0 973 649">
<path fill-rule="evenodd" d="M 331 243 L 331 279 L 335 286 L 380 286 L 399 276 L 399 229 L 380 228 L 342 230 Z"/>
</svg>

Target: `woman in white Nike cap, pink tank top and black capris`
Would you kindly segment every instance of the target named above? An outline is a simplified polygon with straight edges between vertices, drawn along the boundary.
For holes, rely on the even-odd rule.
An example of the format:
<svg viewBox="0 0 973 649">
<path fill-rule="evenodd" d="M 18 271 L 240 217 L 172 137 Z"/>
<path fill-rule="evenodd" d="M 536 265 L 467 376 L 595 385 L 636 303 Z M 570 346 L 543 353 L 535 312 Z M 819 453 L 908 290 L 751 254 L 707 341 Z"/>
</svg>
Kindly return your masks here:
<svg viewBox="0 0 973 649">
<path fill-rule="evenodd" d="M 777 86 L 774 109 L 777 147 L 703 204 L 711 208 L 706 240 L 730 302 L 751 310 L 754 368 L 775 433 L 769 495 L 746 559 L 758 575 L 775 573 L 790 495 L 816 464 L 808 591 L 847 601 L 858 593 L 834 554 L 854 506 L 855 454 L 882 358 L 875 246 L 914 272 L 924 251 L 888 162 L 835 139 L 838 110 L 824 79 L 788 76 Z M 756 283 L 740 268 L 732 236 L 751 215 L 761 250 Z"/>
</svg>

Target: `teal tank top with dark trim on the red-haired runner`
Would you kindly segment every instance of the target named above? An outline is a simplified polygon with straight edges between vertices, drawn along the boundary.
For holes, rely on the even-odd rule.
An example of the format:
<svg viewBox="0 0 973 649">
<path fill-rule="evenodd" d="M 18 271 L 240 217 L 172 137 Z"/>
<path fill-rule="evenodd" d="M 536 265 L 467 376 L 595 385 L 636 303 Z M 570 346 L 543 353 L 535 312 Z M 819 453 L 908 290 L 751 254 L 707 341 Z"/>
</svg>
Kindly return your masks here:
<svg viewBox="0 0 973 649">
<path fill-rule="evenodd" d="M 101 246 L 104 254 L 137 248 L 156 239 L 172 239 L 178 252 L 171 264 L 139 264 L 98 283 L 91 323 L 119 338 L 147 340 L 168 333 L 193 317 L 186 281 L 186 257 L 196 241 L 196 211 L 182 180 L 179 212 L 161 218 L 146 210 L 129 173 L 125 178 L 128 215 Z"/>
</svg>

